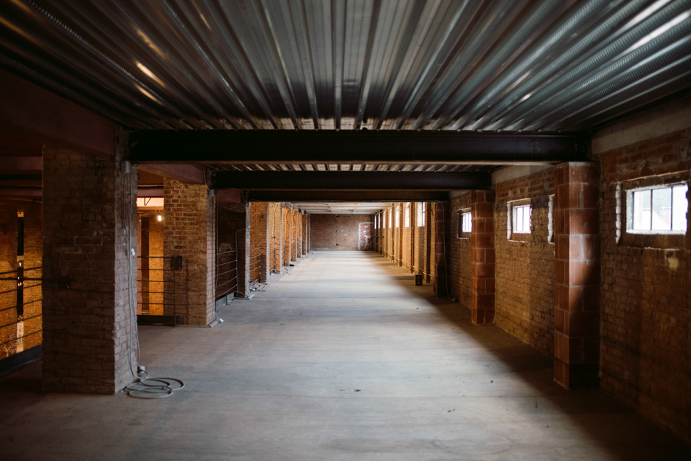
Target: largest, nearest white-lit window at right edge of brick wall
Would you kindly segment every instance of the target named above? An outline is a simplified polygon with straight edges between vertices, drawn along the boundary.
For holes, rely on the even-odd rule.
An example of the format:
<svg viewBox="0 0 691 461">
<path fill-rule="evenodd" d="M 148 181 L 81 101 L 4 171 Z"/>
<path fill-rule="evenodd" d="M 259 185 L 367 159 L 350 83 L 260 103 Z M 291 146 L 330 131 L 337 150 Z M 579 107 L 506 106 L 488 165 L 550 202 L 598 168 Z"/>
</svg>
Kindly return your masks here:
<svg viewBox="0 0 691 461">
<path fill-rule="evenodd" d="M 631 215 L 627 232 L 685 234 L 688 185 L 629 191 Z"/>
</svg>

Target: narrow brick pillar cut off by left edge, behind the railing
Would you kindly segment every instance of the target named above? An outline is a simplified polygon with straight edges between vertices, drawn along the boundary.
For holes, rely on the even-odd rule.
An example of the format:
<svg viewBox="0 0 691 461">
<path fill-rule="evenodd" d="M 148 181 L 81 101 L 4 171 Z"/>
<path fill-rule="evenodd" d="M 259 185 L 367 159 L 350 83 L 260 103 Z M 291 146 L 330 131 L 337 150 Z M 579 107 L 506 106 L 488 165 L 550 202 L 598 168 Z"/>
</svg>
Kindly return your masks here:
<svg viewBox="0 0 691 461">
<path fill-rule="evenodd" d="M 16 271 L 17 264 L 17 207 L 0 205 L 0 272 Z M 16 272 L 0 275 L 12 278 Z M 0 359 L 17 353 L 17 289 L 16 280 L 0 280 Z"/>
</svg>

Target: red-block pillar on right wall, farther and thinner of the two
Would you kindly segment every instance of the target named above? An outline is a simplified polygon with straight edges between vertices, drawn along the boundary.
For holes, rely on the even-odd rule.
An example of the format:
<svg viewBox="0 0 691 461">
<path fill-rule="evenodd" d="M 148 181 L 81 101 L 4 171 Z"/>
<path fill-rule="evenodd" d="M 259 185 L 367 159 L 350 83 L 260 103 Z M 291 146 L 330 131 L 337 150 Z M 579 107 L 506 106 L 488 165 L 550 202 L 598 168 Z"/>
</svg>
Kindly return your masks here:
<svg viewBox="0 0 691 461">
<path fill-rule="evenodd" d="M 471 315 L 475 325 L 494 321 L 494 201 L 495 191 L 472 191 Z"/>
</svg>

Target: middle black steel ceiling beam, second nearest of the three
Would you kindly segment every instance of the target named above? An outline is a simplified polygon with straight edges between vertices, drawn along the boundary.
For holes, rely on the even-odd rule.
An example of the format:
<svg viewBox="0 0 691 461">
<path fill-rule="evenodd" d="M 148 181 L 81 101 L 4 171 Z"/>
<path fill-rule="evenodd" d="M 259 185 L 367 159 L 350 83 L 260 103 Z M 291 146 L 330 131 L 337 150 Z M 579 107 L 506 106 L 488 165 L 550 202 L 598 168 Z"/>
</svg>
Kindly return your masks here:
<svg viewBox="0 0 691 461">
<path fill-rule="evenodd" d="M 417 190 L 489 189 L 490 173 L 422 171 L 218 171 L 212 189 Z"/>
</svg>

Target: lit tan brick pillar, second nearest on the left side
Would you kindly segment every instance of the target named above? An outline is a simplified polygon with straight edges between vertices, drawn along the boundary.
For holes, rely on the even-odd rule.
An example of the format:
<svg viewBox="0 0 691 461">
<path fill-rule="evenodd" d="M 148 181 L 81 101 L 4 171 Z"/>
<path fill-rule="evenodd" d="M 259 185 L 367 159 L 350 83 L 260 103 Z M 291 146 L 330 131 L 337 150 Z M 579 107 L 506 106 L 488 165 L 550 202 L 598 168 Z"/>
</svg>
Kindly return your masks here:
<svg viewBox="0 0 691 461">
<path fill-rule="evenodd" d="M 164 314 L 208 325 L 216 290 L 216 198 L 205 185 L 165 178 L 163 200 L 163 254 L 182 256 L 182 269 L 166 272 Z"/>
</svg>

